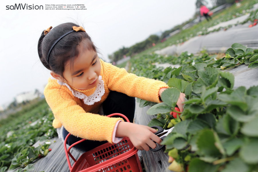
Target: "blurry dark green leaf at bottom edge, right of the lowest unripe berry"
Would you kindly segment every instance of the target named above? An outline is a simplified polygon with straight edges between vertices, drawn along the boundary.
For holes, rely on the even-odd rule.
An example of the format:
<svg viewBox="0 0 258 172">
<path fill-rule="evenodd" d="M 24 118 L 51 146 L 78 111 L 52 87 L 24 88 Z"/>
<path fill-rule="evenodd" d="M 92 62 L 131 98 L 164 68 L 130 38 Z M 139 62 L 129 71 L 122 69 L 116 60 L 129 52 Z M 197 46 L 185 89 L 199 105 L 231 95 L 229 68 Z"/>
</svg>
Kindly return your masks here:
<svg viewBox="0 0 258 172">
<path fill-rule="evenodd" d="M 216 172 L 218 170 L 218 165 L 213 165 L 211 163 L 206 163 L 200 159 L 192 159 L 189 163 L 188 172 Z"/>
</svg>

